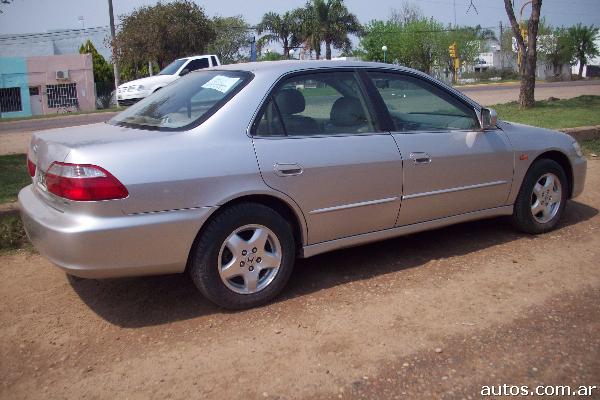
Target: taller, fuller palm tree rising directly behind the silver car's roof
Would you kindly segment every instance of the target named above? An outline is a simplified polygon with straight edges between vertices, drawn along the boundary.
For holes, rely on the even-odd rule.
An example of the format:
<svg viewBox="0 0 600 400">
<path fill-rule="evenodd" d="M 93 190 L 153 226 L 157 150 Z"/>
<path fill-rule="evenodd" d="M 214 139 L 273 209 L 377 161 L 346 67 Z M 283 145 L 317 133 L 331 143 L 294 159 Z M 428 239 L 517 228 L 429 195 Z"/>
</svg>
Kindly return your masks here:
<svg viewBox="0 0 600 400">
<path fill-rule="evenodd" d="M 362 33 L 358 18 L 348 11 L 343 0 L 312 0 L 312 3 L 307 4 L 307 10 L 311 40 L 315 44 L 318 41 L 318 53 L 321 42 L 325 42 L 325 58 L 328 60 L 331 60 L 332 46 L 337 49 L 347 48 L 350 44 L 348 35 Z"/>
</svg>

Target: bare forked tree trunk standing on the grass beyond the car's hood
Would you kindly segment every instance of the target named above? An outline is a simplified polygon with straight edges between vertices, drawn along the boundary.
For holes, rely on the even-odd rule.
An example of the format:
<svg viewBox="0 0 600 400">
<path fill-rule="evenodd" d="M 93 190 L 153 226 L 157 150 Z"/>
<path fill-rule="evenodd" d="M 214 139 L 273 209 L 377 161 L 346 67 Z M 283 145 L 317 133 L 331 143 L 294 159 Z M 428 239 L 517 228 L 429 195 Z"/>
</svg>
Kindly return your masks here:
<svg viewBox="0 0 600 400">
<path fill-rule="evenodd" d="M 521 54 L 519 73 L 521 74 L 521 86 L 519 90 L 519 107 L 530 108 L 535 105 L 535 69 L 537 65 L 537 36 L 540 22 L 540 11 L 542 0 L 532 0 L 531 16 L 527 23 L 527 36 L 521 34 L 521 27 L 515 17 L 515 11 L 511 0 L 504 0 L 504 8 L 512 27 L 513 35 L 517 41 L 517 47 Z M 527 43 L 525 43 L 527 40 Z"/>
</svg>

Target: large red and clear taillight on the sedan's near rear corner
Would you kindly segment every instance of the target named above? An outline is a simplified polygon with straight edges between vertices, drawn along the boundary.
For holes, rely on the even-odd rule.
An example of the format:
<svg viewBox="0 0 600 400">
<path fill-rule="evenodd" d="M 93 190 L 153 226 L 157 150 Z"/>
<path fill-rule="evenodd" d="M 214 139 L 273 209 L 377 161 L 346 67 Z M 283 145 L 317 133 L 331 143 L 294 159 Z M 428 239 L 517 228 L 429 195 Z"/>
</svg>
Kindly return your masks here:
<svg viewBox="0 0 600 400">
<path fill-rule="evenodd" d="M 54 162 L 45 180 L 50 193 L 69 200 L 115 200 L 129 195 L 117 178 L 96 165 Z"/>
</svg>

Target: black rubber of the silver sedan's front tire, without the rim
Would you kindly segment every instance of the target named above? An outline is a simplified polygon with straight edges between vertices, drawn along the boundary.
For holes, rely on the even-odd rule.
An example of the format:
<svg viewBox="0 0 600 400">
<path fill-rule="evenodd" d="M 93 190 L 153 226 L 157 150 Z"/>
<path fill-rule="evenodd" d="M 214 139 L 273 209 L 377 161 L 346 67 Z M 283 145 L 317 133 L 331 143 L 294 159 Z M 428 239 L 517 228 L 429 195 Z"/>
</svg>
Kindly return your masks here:
<svg viewBox="0 0 600 400">
<path fill-rule="evenodd" d="M 536 220 L 531 209 L 532 193 L 533 188 L 538 180 L 548 173 L 554 174 L 556 177 L 558 177 L 561 185 L 561 199 L 558 211 L 552 217 L 552 219 L 541 223 Z M 556 161 L 549 159 L 540 159 L 535 161 L 534 164 L 529 168 L 529 171 L 527 171 L 515 201 L 515 207 L 512 215 L 514 226 L 522 232 L 534 235 L 553 230 L 556 228 L 556 225 L 558 224 L 565 209 L 568 192 L 569 183 L 567 180 L 567 175 L 563 168 Z"/>
</svg>

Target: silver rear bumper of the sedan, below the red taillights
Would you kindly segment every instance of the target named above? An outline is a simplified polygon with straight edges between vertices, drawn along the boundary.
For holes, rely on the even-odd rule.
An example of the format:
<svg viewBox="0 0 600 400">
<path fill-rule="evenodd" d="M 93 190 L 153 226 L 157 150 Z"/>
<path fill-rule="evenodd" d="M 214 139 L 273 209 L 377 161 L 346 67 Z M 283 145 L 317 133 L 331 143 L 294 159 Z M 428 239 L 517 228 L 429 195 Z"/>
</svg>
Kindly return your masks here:
<svg viewBox="0 0 600 400">
<path fill-rule="evenodd" d="M 70 214 L 46 204 L 33 187 L 19 193 L 21 218 L 36 249 L 83 278 L 178 273 L 213 207 L 112 217 Z"/>
</svg>

